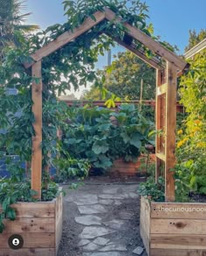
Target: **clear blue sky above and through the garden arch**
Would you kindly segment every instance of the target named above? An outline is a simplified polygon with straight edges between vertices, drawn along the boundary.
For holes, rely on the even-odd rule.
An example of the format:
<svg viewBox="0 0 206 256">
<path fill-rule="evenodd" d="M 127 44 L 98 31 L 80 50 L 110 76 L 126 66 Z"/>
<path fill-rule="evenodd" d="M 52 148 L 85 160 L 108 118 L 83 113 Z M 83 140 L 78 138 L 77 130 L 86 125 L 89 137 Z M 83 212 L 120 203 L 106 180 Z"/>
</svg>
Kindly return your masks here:
<svg viewBox="0 0 206 256">
<path fill-rule="evenodd" d="M 131 1 L 128 1 L 131 2 Z M 184 52 L 189 40 L 189 29 L 199 32 L 206 29 L 206 0 L 144 0 L 149 6 L 149 23 L 154 25 L 154 34 L 161 40 L 176 45 Z M 28 23 L 37 24 L 42 29 L 49 25 L 63 24 L 62 0 L 27 0 L 27 10 L 32 14 Z M 122 47 L 112 50 L 112 54 L 122 51 Z M 106 57 L 100 57 L 98 68 L 106 66 Z"/>
</svg>

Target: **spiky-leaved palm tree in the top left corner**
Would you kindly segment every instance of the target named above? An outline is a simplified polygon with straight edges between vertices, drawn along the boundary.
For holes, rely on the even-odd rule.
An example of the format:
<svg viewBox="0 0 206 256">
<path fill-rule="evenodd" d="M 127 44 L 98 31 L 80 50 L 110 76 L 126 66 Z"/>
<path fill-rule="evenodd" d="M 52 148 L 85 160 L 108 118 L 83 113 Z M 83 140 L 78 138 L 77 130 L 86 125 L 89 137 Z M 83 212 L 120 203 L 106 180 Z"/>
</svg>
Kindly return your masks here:
<svg viewBox="0 0 206 256">
<path fill-rule="evenodd" d="M 32 32 L 38 25 L 25 25 L 25 18 L 31 12 L 21 14 L 24 4 L 19 0 L 0 0 L 0 59 L 3 58 L 4 46 L 19 46 L 19 32 Z"/>
</svg>

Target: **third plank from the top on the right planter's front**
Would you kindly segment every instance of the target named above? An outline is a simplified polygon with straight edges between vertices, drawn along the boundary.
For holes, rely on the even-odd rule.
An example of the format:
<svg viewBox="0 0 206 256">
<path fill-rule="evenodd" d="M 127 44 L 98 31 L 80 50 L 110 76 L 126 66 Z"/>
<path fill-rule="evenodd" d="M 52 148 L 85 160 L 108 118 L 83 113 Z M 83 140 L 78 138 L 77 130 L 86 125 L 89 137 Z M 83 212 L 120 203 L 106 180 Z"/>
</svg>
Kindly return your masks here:
<svg viewBox="0 0 206 256">
<path fill-rule="evenodd" d="M 206 250 L 205 235 L 151 234 L 150 246 L 156 249 L 204 249 Z"/>
</svg>

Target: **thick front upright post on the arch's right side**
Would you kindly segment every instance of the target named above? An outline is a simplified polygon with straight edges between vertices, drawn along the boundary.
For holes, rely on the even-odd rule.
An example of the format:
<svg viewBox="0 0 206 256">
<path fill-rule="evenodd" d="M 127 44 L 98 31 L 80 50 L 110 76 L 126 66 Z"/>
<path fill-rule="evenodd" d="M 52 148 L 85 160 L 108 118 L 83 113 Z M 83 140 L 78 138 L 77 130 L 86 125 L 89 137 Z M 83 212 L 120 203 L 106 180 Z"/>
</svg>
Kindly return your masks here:
<svg viewBox="0 0 206 256">
<path fill-rule="evenodd" d="M 166 92 L 166 131 L 165 131 L 165 199 L 175 201 L 175 127 L 176 127 L 176 68 L 167 62 L 167 92 Z"/>
</svg>

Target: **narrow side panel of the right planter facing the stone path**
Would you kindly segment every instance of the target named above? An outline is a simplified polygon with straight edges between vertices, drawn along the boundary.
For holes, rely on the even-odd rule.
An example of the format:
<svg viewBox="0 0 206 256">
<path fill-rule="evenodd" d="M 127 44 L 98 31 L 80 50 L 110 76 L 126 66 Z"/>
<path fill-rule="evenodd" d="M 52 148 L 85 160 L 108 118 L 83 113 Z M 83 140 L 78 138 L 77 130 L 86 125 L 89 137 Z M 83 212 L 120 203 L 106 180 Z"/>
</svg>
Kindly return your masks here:
<svg viewBox="0 0 206 256">
<path fill-rule="evenodd" d="M 150 205 L 148 200 L 141 196 L 141 222 L 140 231 L 143 244 L 145 245 L 146 251 L 150 250 Z"/>
</svg>

